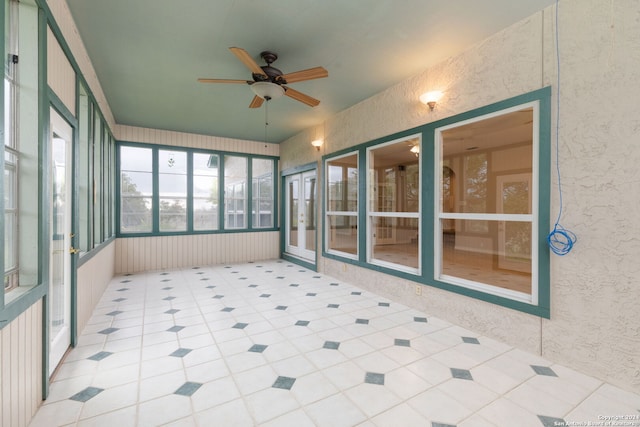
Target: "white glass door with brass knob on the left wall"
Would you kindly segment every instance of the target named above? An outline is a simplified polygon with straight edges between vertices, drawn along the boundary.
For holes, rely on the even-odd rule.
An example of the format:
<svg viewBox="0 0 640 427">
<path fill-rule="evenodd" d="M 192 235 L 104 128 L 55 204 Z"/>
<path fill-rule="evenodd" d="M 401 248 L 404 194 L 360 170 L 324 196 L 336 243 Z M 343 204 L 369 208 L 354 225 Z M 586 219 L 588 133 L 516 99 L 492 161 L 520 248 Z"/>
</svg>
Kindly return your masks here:
<svg viewBox="0 0 640 427">
<path fill-rule="evenodd" d="M 71 143 L 73 129 L 51 109 L 49 200 L 49 374 L 71 345 Z"/>
</svg>

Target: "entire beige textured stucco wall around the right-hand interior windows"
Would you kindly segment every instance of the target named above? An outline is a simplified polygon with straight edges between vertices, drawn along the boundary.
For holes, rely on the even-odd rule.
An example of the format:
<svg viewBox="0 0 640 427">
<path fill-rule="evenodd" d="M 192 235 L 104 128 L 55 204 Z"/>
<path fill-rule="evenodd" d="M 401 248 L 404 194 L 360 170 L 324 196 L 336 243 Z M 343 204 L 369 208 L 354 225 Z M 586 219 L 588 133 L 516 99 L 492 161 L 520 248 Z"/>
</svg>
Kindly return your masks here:
<svg viewBox="0 0 640 427">
<path fill-rule="evenodd" d="M 552 314 L 514 310 L 385 274 L 320 259 L 319 269 L 443 319 L 534 351 L 621 387 L 640 391 L 640 3 L 562 0 L 559 7 L 561 223 L 579 238 L 552 256 Z M 283 169 L 476 107 L 553 87 L 558 93 L 555 7 L 495 34 L 281 144 Z M 429 112 L 418 96 L 442 90 Z M 552 143 L 556 143 L 555 129 Z M 555 159 L 555 156 L 554 156 Z M 557 184 L 555 164 L 552 183 Z M 559 209 L 552 191 L 551 220 Z"/>
</svg>

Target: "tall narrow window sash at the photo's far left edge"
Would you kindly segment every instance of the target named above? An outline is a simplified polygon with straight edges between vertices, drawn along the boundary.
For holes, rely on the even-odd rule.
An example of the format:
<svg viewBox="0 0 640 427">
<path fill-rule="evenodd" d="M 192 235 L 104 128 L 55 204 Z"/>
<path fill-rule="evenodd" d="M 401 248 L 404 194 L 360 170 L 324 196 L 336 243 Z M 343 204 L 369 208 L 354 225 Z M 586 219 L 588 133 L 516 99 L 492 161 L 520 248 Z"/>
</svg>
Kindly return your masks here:
<svg viewBox="0 0 640 427">
<path fill-rule="evenodd" d="M 5 3 L 4 289 L 18 286 L 18 2 Z"/>
</svg>

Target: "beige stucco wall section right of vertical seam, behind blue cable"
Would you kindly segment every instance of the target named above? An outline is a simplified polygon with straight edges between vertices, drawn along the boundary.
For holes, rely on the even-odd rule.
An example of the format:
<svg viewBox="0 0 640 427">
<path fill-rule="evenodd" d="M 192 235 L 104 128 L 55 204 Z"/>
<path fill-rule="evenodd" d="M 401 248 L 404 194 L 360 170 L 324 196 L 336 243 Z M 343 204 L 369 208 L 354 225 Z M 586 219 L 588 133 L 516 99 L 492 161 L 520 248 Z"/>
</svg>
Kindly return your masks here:
<svg viewBox="0 0 640 427">
<path fill-rule="evenodd" d="M 637 392 L 640 3 L 562 1 L 559 18 L 561 222 L 579 242 L 553 259 L 543 354 Z"/>
</svg>

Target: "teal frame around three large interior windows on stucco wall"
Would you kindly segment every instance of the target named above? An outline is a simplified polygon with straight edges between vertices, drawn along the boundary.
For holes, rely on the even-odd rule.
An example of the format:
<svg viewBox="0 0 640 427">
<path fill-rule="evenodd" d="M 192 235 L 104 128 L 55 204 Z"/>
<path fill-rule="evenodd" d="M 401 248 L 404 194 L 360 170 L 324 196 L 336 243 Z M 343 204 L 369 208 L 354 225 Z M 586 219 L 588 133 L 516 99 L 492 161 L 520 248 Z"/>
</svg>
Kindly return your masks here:
<svg viewBox="0 0 640 427">
<path fill-rule="evenodd" d="M 472 289 L 463 287 L 453 283 L 441 281 L 435 278 L 434 271 L 434 257 L 435 249 L 434 242 L 439 236 L 435 236 L 435 221 L 439 221 L 438 206 L 435 200 L 437 194 L 436 186 L 439 185 L 439 179 L 436 177 L 436 169 L 439 166 L 439 159 L 436 159 L 435 149 L 435 137 L 436 129 L 445 126 L 452 126 L 456 123 L 469 121 L 481 116 L 489 115 L 492 113 L 500 112 L 501 110 L 508 110 L 518 107 L 524 104 L 536 104 L 538 108 L 538 129 L 534 129 L 537 132 L 537 151 L 534 152 L 534 159 L 537 159 L 537 215 L 535 221 L 537 221 L 536 235 L 533 236 L 537 239 L 537 268 L 534 277 L 537 276 L 537 294 L 532 298 L 532 301 L 522 301 L 514 298 L 510 298 L 495 293 L 484 292 L 478 289 Z M 369 242 L 367 236 L 369 235 L 367 227 L 367 199 L 366 188 L 369 183 L 369 176 L 367 174 L 367 149 L 375 147 L 380 144 L 389 143 L 390 141 L 398 140 L 401 138 L 411 137 L 414 135 L 420 135 L 422 145 L 420 149 L 420 170 L 421 170 L 421 218 L 422 228 L 420 235 L 420 251 L 421 251 L 421 265 L 422 269 L 418 273 L 409 273 L 401 271 L 395 268 L 389 268 L 388 266 L 381 266 L 372 264 L 367 261 L 367 251 L 362 250 L 366 248 Z M 551 313 L 551 301 L 550 301 L 550 251 L 546 244 L 547 234 L 550 227 L 550 181 L 551 181 L 551 88 L 544 87 L 538 90 L 534 90 L 522 95 L 518 95 L 509 99 L 505 99 L 490 105 L 486 105 L 474 110 L 470 110 L 461 114 L 457 114 L 452 117 L 448 117 L 435 122 L 427 123 L 422 126 L 418 126 L 412 129 L 408 129 L 402 132 L 388 135 L 382 138 L 378 138 L 373 141 L 369 141 L 363 144 L 359 144 L 347 149 L 340 150 L 335 153 L 330 153 L 322 157 L 323 170 L 325 177 L 327 174 L 327 164 L 332 159 L 336 159 L 345 156 L 349 153 L 358 154 L 358 175 L 364 177 L 360 179 L 358 183 L 358 247 L 361 248 L 358 251 L 356 257 L 347 256 L 348 254 L 340 254 L 335 251 L 330 251 L 327 248 L 327 179 L 325 178 L 325 185 L 323 186 L 324 196 L 323 201 L 323 229 L 325 230 L 325 238 L 322 239 L 322 256 L 338 260 L 347 264 L 357 265 L 359 267 L 367 268 L 370 270 L 378 271 L 381 273 L 389 274 L 392 276 L 400 277 L 403 279 L 411 280 L 413 282 L 439 288 L 442 290 L 450 291 L 460 295 L 464 295 L 470 298 L 486 301 L 492 304 L 496 304 L 502 307 L 507 307 L 517 311 L 529 313 L 542 318 L 550 318 Z M 440 174 L 441 172 L 438 172 Z M 533 287 L 534 291 L 536 286 Z"/>
</svg>

